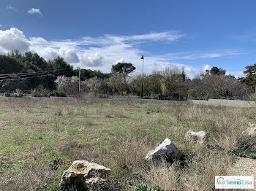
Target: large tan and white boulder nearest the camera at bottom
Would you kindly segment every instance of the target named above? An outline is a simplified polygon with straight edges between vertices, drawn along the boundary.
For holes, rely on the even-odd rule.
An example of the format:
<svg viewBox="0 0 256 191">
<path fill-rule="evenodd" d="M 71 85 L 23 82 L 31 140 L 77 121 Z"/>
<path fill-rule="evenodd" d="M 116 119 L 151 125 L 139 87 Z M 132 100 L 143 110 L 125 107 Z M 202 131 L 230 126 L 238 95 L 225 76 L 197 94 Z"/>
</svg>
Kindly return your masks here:
<svg viewBox="0 0 256 191">
<path fill-rule="evenodd" d="M 86 160 L 75 160 L 72 165 L 64 171 L 61 178 L 61 190 L 66 188 L 75 188 L 79 190 L 88 190 L 89 187 L 104 184 L 110 174 L 110 169 L 96 163 L 90 163 Z"/>
</svg>

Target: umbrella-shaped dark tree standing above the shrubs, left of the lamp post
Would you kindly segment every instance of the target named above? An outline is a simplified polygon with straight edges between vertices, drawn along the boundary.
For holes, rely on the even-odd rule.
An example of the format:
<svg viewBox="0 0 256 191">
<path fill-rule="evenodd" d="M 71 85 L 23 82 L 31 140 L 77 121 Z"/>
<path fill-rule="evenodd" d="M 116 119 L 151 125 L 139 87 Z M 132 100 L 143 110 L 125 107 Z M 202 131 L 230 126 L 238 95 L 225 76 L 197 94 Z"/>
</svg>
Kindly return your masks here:
<svg viewBox="0 0 256 191">
<path fill-rule="evenodd" d="M 132 73 L 136 68 L 132 65 L 132 63 L 117 63 L 112 66 L 111 72 L 113 74 L 121 74 L 124 78 L 124 82 L 126 82 L 126 77 L 128 74 Z"/>
</svg>

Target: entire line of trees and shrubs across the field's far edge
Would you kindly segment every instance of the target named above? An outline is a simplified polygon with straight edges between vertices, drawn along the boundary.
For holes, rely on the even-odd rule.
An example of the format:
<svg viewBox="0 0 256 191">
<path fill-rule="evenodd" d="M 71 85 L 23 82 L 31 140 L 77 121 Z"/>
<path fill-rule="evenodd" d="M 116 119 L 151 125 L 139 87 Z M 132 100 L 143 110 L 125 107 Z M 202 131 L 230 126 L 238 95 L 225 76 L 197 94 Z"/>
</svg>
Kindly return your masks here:
<svg viewBox="0 0 256 191">
<path fill-rule="evenodd" d="M 184 69 L 176 67 L 153 71 L 143 77 L 130 76 L 134 70 L 132 63 L 117 63 L 109 74 L 81 69 L 82 94 L 104 98 L 110 95 L 140 96 L 143 85 L 143 98 L 244 99 L 255 92 L 256 86 L 256 64 L 246 66 L 246 77 L 238 79 L 216 66 L 193 79 L 187 78 Z M 8 55 L 0 55 L 0 91 L 31 90 L 34 96 L 77 95 L 78 72 L 64 58 L 45 61 L 37 53 L 21 54 L 15 50 Z"/>
</svg>

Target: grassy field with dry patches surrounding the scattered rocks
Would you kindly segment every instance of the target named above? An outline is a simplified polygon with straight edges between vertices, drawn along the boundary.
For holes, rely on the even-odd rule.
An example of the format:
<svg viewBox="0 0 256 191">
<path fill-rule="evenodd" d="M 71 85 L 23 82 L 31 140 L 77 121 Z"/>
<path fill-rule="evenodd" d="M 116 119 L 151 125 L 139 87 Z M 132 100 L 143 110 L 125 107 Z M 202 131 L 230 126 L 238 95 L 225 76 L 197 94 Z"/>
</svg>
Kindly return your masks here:
<svg viewBox="0 0 256 191">
<path fill-rule="evenodd" d="M 214 190 L 225 175 L 256 110 L 181 104 L 100 103 L 93 99 L 3 98 L 0 100 L 0 190 L 59 190 L 74 160 L 112 170 L 117 190 L 141 182 L 163 190 Z M 187 130 L 206 130 L 203 146 L 184 141 Z M 165 138 L 183 160 L 154 165 L 146 153 Z"/>
</svg>

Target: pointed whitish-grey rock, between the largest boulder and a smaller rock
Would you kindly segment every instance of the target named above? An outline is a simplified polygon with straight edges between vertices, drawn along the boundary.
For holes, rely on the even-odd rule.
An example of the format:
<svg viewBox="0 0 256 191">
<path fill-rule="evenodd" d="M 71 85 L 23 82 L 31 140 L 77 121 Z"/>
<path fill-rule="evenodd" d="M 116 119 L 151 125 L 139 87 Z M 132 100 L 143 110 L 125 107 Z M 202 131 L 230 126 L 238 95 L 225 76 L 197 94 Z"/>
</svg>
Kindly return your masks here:
<svg viewBox="0 0 256 191">
<path fill-rule="evenodd" d="M 170 139 L 165 139 L 156 149 L 151 150 L 146 155 L 146 160 L 152 160 L 154 162 L 161 162 L 165 160 L 166 162 L 173 161 L 173 158 L 178 153 L 177 147 L 170 141 Z"/>
</svg>

